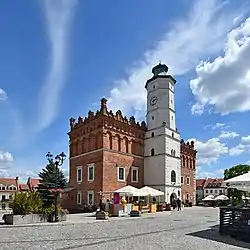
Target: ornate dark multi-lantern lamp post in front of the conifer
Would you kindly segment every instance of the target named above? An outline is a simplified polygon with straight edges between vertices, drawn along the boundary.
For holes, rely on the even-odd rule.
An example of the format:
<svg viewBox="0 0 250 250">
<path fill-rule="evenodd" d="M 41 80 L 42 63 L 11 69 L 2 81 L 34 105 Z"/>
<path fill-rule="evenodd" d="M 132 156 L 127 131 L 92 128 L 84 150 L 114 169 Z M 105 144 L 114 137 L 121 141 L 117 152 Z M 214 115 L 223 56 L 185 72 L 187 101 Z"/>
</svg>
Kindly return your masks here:
<svg viewBox="0 0 250 250">
<path fill-rule="evenodd" d="M 57 175 L 58 175 L 58 179 L 56 181 L 56 183 L 51 183 L 54 185 L 54 203 L 55 203 L 55 222 L 59 221 L 58 218 L 58 189 L 60 188 L 60 183 L 59 183 L 59 178 L 60 178 L 60 171 L 59 171 L 59 166 L 62 166 L 63 162 L 66 159 L 66 155 L 64 152 L 62 152 L 59 155 L 56 155 L 55 157 L 53 156 L 53 154 L 51 154 L 50 152 L 48 152 L 46 154 L 46 158 L 47 161 L 49 162 L 49 164 L 54 165 L 57 169 Z"/>
</svg>

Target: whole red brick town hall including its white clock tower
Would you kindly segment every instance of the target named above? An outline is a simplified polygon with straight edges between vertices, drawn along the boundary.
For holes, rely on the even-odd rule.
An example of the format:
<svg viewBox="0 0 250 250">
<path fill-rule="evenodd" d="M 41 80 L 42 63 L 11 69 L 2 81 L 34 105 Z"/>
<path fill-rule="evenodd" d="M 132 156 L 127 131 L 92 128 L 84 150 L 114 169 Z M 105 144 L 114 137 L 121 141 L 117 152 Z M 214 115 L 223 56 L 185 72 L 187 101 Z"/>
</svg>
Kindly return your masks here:
<svg viewBox="0 0 250 250">
<path fill-rule="evenodd" d="M 98 204 L 103 194 L 126 185 L 163 191 L 165 201 L 179 197 L 195 204 L 196 150 L 176 127 L 175 83 L 159 64 L 145 85 L 146 122 L 108 109 L 70 119 L 69 209 Z"/>
</svg>

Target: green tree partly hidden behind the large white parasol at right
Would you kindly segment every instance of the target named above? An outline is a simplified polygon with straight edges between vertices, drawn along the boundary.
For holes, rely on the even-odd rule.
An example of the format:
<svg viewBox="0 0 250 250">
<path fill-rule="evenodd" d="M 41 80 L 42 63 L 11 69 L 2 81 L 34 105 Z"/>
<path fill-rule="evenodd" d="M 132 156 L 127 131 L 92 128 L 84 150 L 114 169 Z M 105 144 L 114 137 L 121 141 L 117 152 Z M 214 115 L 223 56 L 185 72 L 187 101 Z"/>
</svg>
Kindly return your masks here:
<svg viewBox="0 0 250 250">
<path fill-rule="evenodd" d="M 250 166 L 246 164 L 239 164 L 233 166 L 229 169 L 225 169 L 224 171 L 224 180 L 231 179 L 233 177 L 245 174 L 250 171 Z M 228 196 L 233 199 L 235 205 L 239 204 L 242 201 L 242 195 L 244 192 L 239 191 L 237 189 L 229 188 Z"/>
</svg>

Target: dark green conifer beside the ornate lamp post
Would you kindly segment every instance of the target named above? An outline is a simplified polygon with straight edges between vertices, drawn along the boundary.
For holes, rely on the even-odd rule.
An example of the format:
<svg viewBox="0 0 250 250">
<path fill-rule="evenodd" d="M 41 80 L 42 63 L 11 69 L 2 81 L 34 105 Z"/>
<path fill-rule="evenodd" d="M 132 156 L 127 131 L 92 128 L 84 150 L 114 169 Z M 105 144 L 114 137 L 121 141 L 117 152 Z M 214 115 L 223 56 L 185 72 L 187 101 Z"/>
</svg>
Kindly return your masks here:
<svg viewBox="0 0 250 250">
<path fill-rule="evenodd" d="M 51 205 L 54 202 L 54 195 L 50 192 L 51 189 L 63 189 L 67 186 L 67 180 L 62 170 L 50 162 L 42 171 L 39 173 L 41 178 L 38 191 L 42 197 L 42 200 L 46 205 Z"/>
</svg>

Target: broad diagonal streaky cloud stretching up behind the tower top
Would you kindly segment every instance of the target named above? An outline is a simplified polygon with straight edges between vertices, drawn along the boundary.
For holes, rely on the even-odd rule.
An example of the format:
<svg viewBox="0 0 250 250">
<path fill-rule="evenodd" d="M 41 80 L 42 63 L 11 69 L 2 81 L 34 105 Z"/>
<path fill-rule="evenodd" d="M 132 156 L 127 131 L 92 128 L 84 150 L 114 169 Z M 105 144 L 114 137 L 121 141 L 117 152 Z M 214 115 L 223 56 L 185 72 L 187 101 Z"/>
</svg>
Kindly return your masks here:
<svg viewBox="0 0 250 250">
<path fill-rule="evenodd" d="M 124 112 L 144 111 L 146 92 L 144 85 L 150 77 L 151 68 L 159 59 L 164 60 L 171 73 L 182 75 L 195 67 L 201 58 L 221 50 L 237 10 L 223 13 L 225 2 L 219 0 L 194 1 L 195 5 L 186 17 L 172 23 L 161 41 L 133 65 L 128 76 L 116 82 L 110 91 L 109 105 Z M 206 48 L 206 49 L 204 49 Z"/>
</svg>

